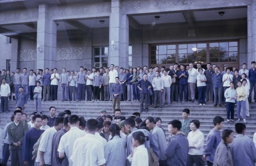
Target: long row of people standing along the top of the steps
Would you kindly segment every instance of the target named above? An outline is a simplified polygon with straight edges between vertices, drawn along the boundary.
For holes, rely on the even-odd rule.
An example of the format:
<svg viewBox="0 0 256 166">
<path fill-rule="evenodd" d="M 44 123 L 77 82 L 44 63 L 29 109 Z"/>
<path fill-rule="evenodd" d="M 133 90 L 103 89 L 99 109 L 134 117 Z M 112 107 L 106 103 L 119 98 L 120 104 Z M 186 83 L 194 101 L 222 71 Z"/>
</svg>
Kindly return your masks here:
<svg viewBox="0 0 256 166">
<path fill-rule="evenodd" d="M 245 63 L 240 70 L 224 65 L 222 72 L 211 63 L 207 69 L 200 62 L 196 66 L 197 69 L 193 63 L 188 66 L 175 63 L 169 69 L 164 66 L 124 69 L 111 64 L 109 68 L 92 68 L 92 71 L 83 66 L 79 72 L 62 68 L 61 74 L 57 68 L 51 73 L 49 68 L 45 72 L 38 69 L 29 73 L 27 68 L 23 68 L 23 73 L 17 68 L 15 74 L 2 70 L 1 108 L 2 112 L 8 112 L 8 97 L 23 109 L 28 100 L 33 100 L 35 112 L 42 114 L 41 101 L 57 100 L 60 85 L 62 101 L 112 101 L 113 112 L 116 105 L 120 109 L 121 101 L 140 101 L 140 112 L 148 112 L 148 105 L 157 108 L 158 101 L 160 108 L 172 102 L 197 101 L 200 106 L 212 102 L 214 106 L 226 106 L 228 122 L 234 121 L 237 105 L 237 121 L 243 119 L 246 123 L 246 117 L 250 116 L 249 103 L 256 102 L 255 61 L 249 70 Z"/>
</svg>

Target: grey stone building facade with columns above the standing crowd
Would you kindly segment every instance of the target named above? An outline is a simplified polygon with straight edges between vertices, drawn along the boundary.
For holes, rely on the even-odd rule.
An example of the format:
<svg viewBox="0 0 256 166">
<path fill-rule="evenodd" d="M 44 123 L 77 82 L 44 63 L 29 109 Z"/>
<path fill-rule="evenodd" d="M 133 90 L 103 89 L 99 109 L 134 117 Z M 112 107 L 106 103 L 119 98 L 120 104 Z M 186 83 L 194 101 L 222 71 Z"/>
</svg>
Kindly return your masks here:
<svg viewBox="0 0 256 166">
<path fill-rule="evenodd" d="M 241 68 L 256 59 L 253 0 L 2 0 L 3 69 Z"/>
</svg>

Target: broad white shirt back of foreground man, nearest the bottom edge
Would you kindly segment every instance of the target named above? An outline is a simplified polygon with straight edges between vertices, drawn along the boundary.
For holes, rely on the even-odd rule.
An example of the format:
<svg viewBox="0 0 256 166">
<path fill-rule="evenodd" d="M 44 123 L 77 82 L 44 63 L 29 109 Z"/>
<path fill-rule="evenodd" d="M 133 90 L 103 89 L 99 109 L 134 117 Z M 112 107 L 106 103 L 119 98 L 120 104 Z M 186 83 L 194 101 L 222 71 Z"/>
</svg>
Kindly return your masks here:
<svg viewBox="0 0 256 166">
<path fill-rule="evenodd" d="M 90 133 L 76 139 L 71 160 L 75 166 L 98 166 L 104 164 L 106 160 L 102 143 L 95 135 Z"/>
</svg>

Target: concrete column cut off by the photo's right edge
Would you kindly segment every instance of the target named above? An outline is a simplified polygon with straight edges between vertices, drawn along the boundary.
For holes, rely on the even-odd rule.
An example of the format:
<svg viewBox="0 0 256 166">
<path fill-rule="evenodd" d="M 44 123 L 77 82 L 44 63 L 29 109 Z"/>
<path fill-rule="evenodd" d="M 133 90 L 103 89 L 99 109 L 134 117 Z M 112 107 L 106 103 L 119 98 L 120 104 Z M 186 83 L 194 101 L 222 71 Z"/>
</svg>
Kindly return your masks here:
<svg viewBox="0 0 256 166">
<path fill-rule="evenodd" d="M 252 1 L 247 7 L 247 64 L 256 60 L 256 2 Z"/>
</svg>

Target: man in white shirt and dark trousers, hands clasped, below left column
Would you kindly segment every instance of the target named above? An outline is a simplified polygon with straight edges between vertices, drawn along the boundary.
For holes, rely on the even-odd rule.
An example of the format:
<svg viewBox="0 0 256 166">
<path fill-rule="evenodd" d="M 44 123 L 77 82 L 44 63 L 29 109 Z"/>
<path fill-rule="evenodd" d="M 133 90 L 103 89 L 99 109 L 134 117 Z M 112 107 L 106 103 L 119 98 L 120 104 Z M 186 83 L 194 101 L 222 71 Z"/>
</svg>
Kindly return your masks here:
<svg viewBox="0 0 256 166">
<path fill-rule="evenodd" d="M 58 93 L 58 85 L 59 85 L 59 74 L 57 73 L 57 68 L 53 69 L 53 73 L 51 75 L 51 100 L 57 100 Z"/>
</svg>

